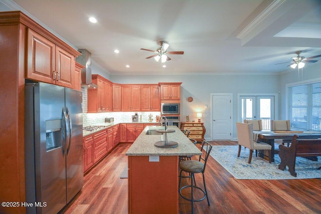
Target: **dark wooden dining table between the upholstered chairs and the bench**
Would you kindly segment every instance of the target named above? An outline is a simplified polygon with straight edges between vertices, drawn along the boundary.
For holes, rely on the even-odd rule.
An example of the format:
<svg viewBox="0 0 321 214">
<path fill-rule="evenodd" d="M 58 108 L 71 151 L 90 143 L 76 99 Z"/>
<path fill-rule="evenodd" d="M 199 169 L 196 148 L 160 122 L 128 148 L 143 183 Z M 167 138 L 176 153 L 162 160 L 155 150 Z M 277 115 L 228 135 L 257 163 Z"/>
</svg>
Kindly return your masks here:
<svg viewBox="0 0 321 214">
<path fill-rule="evenodd" d="M 261 130 L 261 131 L 253 131 L 254 139 L 258 142 L 268 143 L 272 146 L 271 148 L 271 162 L 274 162 L 274 155 L 278 154 L 279 149 L 275 148 L 275 139 L 283 139 L 283 140 L 292 140 L 294 135 L 298 135 L 299 138 L 302 139 L 317 139 L 321 138 L 320 131 L 301 131 L 301 130 L 290 130 L 290 131 L 272 131 L 272 130 Z M 268 160 L 268 151 L 267 150 L 259 150 L 259 157 Z"/>
</svg>

